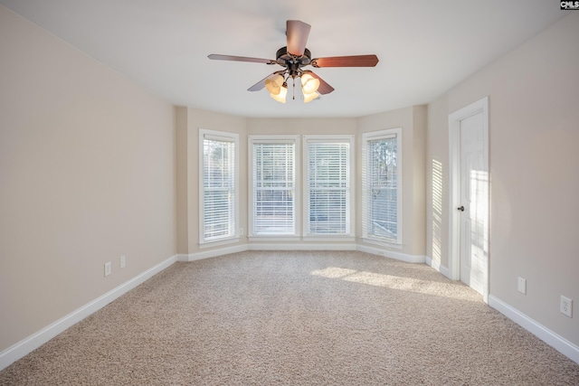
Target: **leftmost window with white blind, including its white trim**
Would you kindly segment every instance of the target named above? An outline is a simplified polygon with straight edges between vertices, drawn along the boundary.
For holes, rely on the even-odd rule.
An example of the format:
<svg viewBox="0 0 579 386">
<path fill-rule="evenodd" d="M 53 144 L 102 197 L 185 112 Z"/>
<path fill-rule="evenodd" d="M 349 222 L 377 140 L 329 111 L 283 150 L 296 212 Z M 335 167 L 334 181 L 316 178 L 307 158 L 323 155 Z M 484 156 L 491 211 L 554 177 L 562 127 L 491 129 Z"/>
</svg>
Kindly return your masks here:
<svg viewBox="0 0 579 386">
<path fill-rule="evenodd" d="M 239 136 L 199 131 L 201 244 L 237 237 Z"/>
</svg>

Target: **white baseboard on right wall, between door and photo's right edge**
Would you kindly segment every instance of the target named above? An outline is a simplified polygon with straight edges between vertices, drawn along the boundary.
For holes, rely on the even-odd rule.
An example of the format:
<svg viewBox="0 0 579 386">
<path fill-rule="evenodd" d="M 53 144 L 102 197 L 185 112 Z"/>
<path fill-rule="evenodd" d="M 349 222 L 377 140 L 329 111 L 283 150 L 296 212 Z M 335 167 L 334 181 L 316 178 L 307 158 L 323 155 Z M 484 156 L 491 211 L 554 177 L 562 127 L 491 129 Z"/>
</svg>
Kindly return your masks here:
<svg viewBox="0 0 579 386">
<path fill-rule="evenodd" d="M 540 325 L 535 320 L 518 311 L 516 308 L 509 306 L 507 303 L 489 295 L 489 306 L 496 309 L 502 315 L 507 316 L 510 320 L 525 328 L 528 332 L 535 334 L 546 344 L 554 347 L 559 353 L 563 353 L 567 358 L 579 364 L 579 346 L 569 342 L 563 336 L 554 333 Z"/>
</svg>

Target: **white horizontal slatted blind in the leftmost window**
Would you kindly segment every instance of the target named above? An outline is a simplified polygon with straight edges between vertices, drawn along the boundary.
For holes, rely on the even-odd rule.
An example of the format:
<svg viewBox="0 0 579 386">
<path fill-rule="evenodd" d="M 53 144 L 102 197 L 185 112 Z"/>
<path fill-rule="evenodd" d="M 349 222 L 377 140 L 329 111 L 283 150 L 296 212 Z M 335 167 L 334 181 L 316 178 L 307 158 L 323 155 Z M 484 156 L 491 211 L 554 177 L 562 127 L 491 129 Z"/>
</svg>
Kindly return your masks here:
<svg viewBox="0 0 579 386">
<path fill-rule="evenodd" d="M 203 239 L 235 235 L 235 143 L 233 139 L 204 137 Z"/>
</svg>

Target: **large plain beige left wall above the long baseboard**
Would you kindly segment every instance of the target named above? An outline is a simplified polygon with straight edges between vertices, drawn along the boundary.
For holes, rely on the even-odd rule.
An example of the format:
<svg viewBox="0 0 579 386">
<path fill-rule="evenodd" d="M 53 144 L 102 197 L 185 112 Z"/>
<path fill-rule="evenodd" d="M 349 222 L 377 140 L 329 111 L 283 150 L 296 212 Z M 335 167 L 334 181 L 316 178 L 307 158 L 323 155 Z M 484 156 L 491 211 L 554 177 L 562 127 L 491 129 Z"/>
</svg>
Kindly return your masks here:
<svg viewBox="0 0 579 386">
<path fill-rule="evenodd" d="M 0 52 L 2 352 L 175 255 L 176 178 L 170 105 L 3 6 Z"/>
</svg>

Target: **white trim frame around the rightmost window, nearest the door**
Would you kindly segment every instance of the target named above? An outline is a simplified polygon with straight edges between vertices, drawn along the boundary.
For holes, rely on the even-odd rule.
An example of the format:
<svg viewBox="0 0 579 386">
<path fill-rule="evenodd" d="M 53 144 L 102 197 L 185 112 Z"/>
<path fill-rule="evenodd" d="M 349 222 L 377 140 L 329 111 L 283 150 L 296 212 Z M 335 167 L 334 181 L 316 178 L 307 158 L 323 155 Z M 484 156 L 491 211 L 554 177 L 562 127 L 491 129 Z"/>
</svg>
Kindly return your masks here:
<svg viewBox="0 0 579 386">
<path fill-rule="evenodd" d="M 370 244 L 383 245 L 388 248 L 403 248 L 403 143 L 402 143 L 402 127 L 388 128 L 379 131 L 370 131 L 362 134 L 362 240 Z M 366 233 L 365 227 L 365 213 L 367 211 L 367 185 L 365 181 L 366 168 L 367 168 L 367 156 L 366 156 L 366 144 L 368 141 L 375 139 L 396 137 L 396 159 L 397 159 L 397 177 L 398 181 L 396 189 L 396 221 L 397 221 L 397 231 L 396 240 L 383 240 L 380 238 L 375 238 L 369 236 Z"/>
</svg>

